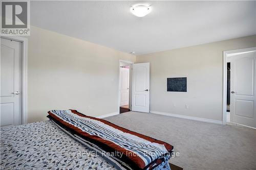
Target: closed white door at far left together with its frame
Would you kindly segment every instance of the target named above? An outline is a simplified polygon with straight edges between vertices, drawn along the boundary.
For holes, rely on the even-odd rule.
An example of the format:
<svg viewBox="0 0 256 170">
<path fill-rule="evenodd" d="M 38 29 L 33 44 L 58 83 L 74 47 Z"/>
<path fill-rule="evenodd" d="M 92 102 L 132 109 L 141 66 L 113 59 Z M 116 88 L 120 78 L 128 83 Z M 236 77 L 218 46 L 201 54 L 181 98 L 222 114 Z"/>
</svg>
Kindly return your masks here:
<svg viewBox="0 0 256 170">
<path fill-rule="evenodd" d="M 27 39 L 1 37 L 1 128 L 27 123 Z"/>
</svg>

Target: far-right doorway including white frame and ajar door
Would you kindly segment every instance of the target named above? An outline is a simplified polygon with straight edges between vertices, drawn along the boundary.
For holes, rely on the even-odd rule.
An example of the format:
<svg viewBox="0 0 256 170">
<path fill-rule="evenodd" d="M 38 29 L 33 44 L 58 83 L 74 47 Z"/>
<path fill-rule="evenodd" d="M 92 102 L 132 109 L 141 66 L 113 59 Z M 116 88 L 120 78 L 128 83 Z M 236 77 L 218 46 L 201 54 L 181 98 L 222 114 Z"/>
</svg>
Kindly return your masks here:
<svg viewBox="0 0 256 170">
<path fill-rule="evenodd" d="M 224 52 L 223 65 L 223 124 L 256 128 L 256 47 Z"/>
</svg>

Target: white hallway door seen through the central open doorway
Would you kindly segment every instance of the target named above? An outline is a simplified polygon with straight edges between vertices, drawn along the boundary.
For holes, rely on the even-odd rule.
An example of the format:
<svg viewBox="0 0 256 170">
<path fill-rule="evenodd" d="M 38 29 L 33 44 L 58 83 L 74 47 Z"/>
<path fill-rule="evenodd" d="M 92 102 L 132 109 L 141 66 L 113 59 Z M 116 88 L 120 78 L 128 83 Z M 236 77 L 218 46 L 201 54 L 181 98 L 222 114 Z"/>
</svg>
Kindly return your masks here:
<svg viewBox="0 0 256 170">
<path fill-rule="evenodd" d="M 129 105 L 130 69 L 120 67 L 120 106 Z"/>
</svg>

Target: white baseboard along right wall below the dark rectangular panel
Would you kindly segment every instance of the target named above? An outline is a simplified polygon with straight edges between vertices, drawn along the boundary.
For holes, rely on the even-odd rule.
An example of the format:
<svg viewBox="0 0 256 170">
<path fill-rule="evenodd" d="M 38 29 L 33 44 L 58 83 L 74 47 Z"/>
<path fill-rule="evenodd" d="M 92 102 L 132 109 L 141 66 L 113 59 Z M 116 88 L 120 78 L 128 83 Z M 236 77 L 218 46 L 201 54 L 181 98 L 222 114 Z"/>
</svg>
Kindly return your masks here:
<svg viewBox="0 0 256 170">
<path fill-rule="evenodd" d="M 161 115 L 165 115 L 165 116 L 172 116 L 172 117 L 178 117 L 178 118 L 185 118 L 185 119 L 189 119 L 189 120 L 197 120 L 197 121 L 200 121 L 200 122 L 208 122 L 208 123 L 214 123 L 214 124 L 221 124 L 221 125 L 222 125 L 222 121 L 220 121 L 220 120 L 212 120 L 212 119 L 207 119 L 207 118 L 200 118 L 200 117 L 193 117 L 193 116 L 185 116 L 185 115 L 180 115 L 180 114 L 159 112 L 159 111 L 153 111 L 153 110 L 151 110 L 150 113 L 161 114 Z"/>
</svg>

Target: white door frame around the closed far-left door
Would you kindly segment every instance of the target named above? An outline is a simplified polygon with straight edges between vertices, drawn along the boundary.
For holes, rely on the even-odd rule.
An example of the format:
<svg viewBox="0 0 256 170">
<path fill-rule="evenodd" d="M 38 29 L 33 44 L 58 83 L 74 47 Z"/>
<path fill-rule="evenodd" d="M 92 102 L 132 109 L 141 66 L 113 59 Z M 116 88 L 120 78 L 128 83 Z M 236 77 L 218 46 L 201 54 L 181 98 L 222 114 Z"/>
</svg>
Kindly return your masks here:
<svg viewBox="0 0 256 170">
<path fill-rule="evenodd" d="M 22 42 L 22 124 L 27 124 L 28 108 L 28 39 L 17 36 L 1 36 L 1 38 Z"/>
</svg>

